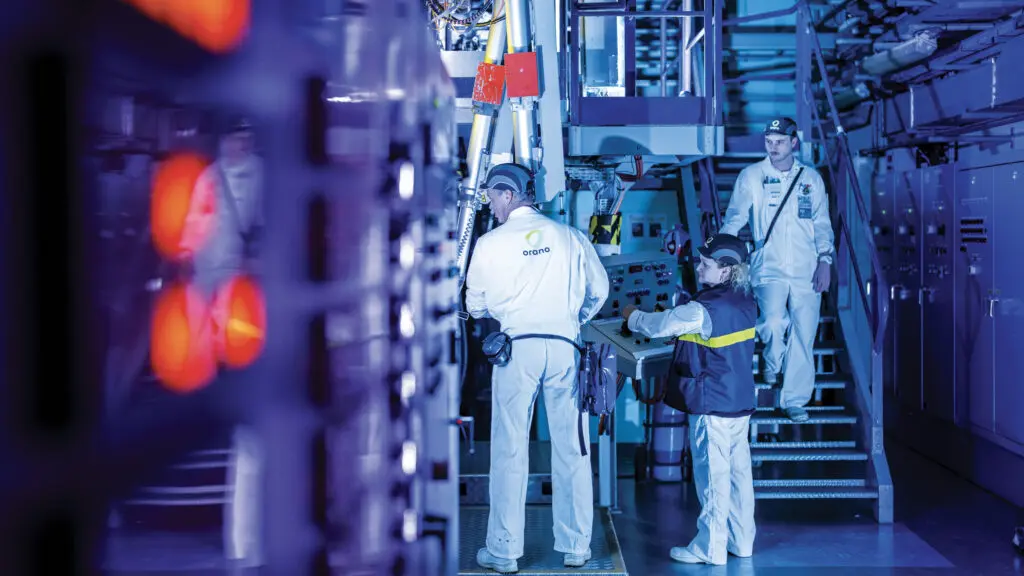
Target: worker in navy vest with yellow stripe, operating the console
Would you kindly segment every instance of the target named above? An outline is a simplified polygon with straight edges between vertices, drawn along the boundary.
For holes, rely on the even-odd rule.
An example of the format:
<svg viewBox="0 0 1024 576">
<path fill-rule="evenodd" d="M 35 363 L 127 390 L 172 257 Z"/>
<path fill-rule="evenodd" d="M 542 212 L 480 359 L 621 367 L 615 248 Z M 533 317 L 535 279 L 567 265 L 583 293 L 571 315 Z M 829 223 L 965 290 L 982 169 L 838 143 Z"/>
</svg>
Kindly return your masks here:
<svg viewBox="0 0 1024 576">
<path fill-rule="evenodd" d="M 700 500 L 697 534 L 670 556 L 686 564 L 726 564 L 754 553 L 754 478 L 750 423 L 757 410 L 751 373 L 757 303 L 746 245 L 719 234 L 698 248 L 697 279 L 707 286 L 689 302 L 645 313 L 623 308 L 629 330 L 676 338 L 664 402 L 689 415 L 693 481 Z"/>
</svg>

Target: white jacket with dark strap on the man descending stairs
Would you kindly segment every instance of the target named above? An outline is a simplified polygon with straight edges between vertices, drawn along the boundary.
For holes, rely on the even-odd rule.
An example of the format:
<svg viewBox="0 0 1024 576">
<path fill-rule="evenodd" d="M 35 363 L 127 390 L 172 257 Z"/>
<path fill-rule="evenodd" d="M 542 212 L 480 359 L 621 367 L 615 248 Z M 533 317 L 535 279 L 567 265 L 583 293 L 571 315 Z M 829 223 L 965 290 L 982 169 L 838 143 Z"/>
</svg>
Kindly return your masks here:
<svg viewBox="0 0 1024 576">
<path fill-rule="evenodd" d="M 800 169 L 800 180 L 782 206 L 775 229 L 765 235 Z M 794 161 L 782 173 L 767 157 L 739 173 L 722 224 L 723 234 L 735 236 L 750 222 L 754 238 L 751 278 L 756 285 L 771 281 L 808 281 L 819 260 L 831 262 L 835 234 L 828 216 L 828 196 L 821 175 L 813 167 Z"/>
</svg>

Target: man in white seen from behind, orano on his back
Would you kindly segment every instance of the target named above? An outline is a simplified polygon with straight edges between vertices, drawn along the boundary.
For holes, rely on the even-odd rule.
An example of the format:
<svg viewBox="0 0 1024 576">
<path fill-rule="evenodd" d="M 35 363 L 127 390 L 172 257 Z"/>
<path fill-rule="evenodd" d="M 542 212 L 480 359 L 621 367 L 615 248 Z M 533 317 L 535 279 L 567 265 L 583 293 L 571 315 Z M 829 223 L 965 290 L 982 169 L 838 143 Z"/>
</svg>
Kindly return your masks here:
<svg viewBox="0 0 1024 576">
<path fill-rule="evenodd" d="M 466 307 L 493 318 L 510 336 L 545 334 L 579 342 L 608 296 L 608 276 L 587 237 L 534 207 L 534 176 L 517 164 L 492 168 L 482 187 L 501 223 L 476 242 L 466 277 Z M 591 558 L 594 477 L 590 426 L 578 429 L 578 353 L 570 341 L 515 340 L 492 380 L 490 515 L 477 563 L 504 574 L 523 554 L 529 425 L 541 389 L 551 428 L 555 550 L 566 567 Z M 586 446 L 586 454 L 582 450 Z"/>
</svg>

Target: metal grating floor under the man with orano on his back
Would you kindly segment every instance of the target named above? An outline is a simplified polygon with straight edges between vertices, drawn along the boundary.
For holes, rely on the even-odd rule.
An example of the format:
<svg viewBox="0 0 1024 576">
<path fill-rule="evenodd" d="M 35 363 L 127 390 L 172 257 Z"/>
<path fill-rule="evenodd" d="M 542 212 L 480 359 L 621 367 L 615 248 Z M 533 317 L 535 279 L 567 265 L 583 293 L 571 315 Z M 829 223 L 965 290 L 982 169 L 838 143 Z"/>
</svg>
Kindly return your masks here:
<svg viewBox="0 0 1024 576">
<path fill-rule="evenodd" d="M 476 551 L 486 539 L 487 509 L 486 506 L 459 508 L 459 574 L 495 574 L 476 565 Z M 526 506 L 526 545 L 519 559 L 519 575 L 628 575 L 607 508 L 594 509 L 594 537 L 590 543 L 593 558 L 583 568 L 562 566 L 562 553 L 554 550 L 552 522 L 551 506 Z"/>
</svg>

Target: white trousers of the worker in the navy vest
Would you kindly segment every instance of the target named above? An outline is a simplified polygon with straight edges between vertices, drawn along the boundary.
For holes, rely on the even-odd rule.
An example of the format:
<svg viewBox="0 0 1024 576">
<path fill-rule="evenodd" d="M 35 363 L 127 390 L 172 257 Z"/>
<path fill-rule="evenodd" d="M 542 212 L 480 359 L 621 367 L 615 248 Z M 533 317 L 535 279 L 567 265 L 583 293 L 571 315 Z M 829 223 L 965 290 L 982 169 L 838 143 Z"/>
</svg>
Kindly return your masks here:
<svg viewBox="0 0 1024 576">
<path fill-rule="evenodd" d="M 750 416 L 725 418 L 690 414 L 693 482 L 700 500 L 697 535 L 687 549 L 710 564 L 726 563 L 728 552 L 754 551 L 754 478 L 751 474 Z"/>
</svg>

